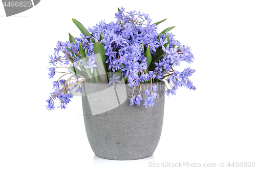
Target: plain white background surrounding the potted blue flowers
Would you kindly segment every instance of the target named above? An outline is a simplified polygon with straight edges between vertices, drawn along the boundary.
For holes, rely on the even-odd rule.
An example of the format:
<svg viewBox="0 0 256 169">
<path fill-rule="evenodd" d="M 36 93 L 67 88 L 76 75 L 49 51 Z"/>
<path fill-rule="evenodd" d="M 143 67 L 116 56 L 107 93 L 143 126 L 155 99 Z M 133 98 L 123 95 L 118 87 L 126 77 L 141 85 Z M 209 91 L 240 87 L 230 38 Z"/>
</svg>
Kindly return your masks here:
<svg viewBox="0 0 256 169">
<path fill-rule="evenodd" d="M 81 98 L 46 109 L 52 92 L 49 54 L 58 40 L 105 19 L 117 7 L 164 18 L 195 56 L 196 91 L 166 97 L 163 130 L 152 157 L 112 161 L 89 145 Z M 256 162 L 255 1 L 50 1 L 6 17 L 0 5 L 0 168 L 148 168 L 152 163 Z M 184 68 L 187 65 L 181 65 Z M 58 106 L 58 105 L 57 105 Z M 157 111 L 157 110 L 156 110 Z M 229 167 L 225 167 L 229 168 Z M 231 167 L 232 168 L 232 167 Z"/>
</svg>

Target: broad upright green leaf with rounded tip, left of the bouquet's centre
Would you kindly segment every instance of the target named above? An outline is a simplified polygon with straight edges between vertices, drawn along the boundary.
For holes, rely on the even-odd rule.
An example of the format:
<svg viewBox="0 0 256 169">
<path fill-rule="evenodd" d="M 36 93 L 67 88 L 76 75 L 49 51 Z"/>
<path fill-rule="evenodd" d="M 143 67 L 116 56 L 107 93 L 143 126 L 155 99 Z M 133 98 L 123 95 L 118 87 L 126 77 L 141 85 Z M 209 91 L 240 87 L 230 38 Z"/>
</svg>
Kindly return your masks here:
<svg viewBox="0 0 256 169">
<path fill-rule="evenodd" d="M 106 65 L 105 48 L 100 42 L 94 43 L 94 53 L 102 83 L 108 83 L 108 66 Z"/>
</svg>

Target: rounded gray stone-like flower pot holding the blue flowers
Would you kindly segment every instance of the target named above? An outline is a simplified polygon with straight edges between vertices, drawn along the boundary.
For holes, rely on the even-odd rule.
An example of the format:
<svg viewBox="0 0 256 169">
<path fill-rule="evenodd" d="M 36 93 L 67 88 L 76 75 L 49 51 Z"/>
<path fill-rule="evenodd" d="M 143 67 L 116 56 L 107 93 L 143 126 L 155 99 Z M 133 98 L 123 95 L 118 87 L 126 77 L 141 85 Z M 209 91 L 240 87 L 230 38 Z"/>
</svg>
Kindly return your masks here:
<svg viewBox="0 0 256 169">
<path fill-rule="evenodd" d="M 96 156 L 111 160 L 150 157 L 158 145 L 164 114 L 165 85 L 157 85 L 154 107 L 130 106 L 133 88 L 125 84 L 82 83 L 83 118 Z M 140 94 L 150 84 L 141 84 Z M 134 94 L 138 94 L 136 87 Z"/>
</svg>

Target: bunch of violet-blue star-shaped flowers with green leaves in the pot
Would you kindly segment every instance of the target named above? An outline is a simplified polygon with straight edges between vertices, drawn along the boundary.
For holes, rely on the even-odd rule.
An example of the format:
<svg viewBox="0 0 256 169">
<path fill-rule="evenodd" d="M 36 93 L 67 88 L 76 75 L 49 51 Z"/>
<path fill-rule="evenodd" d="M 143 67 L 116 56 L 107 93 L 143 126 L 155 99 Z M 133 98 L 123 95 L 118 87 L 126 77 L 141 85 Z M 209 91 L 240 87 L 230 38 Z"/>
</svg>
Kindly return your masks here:
<svg viewBox="0 0 256 169">
<path fill-rule="evenodd" d="M 59 68 L 68 68 L 67 72 L 59 72 L 63 75 L 53 81 L 54 91 L 47 100 L 49 110 L 55 108 L 55 100 L 60 101 L 61 109 L 66 108 L 73 98 L 71 90 L 76 88 L 76 92 L 81 93 L 83 81 L 112 83 L 115 87 L 116 83 L 124 80 L 134 88 L 140 88 L 140 83 L 150 83 L 150 89 L 145 91 L 145 107 L 155 105 L 154 99 L 158 97 L 155 82 L 165 84 L 167 96 L 176 95 L 178 87 L 182 86 L 196 89 L 188 79 L 195 72 L 194 69 L 186 68 L 182 72 L 174 70 L 175 66 L 180 66 L 180 62 L 191 63 L 194 59 L 190 48 L 181 45 L 172 33 L 168 33 L 175 26 L 157 33 L 157 25 L 166 19 L 152 24 L 148 14 L 140 11 L 125 14 L 124 10 L 118 8 L 116 22 L 106 24 L 101 21 L 88 30 L 73 19 L 82 33 L 81 37 L 74 38 L 69 34 L 69 41 L 58 41 L 54 56 L 49 56 L 49 63 L 53 66 L 48 68 L 50 78 L 59 72 Z M 67 75 L 69 77 L 61 79 Z M 141 101 L 140 94 L 133 95 L 130 105 L 140 105 Z"/>
</svg>

